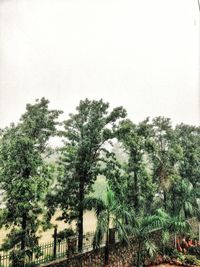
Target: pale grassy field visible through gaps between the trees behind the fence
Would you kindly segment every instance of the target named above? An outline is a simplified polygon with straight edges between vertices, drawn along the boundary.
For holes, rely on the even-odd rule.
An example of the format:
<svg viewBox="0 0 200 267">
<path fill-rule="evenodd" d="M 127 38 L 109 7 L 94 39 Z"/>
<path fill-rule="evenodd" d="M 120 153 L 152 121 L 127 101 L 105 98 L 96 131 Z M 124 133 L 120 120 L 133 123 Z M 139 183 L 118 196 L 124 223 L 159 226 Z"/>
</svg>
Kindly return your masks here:
<svg viewBox="0 0 200 267">
<path fill-rule="evenodd" d="M 105 178 L 102 176 L 99 176 L 97 178 L 97 181 L 95 182 L 93 188 L 94 192 L 91 193 L 91 195 L 98 197 L 98 198 L 104 198 L 105 197 L 105 192 L 106 192 L 106 187 L 107 183 L 105 181 Z M 61 215 L 61 211 L 57 211 L 54 217 L 52 218 L 51 222 L 54 225 L 58 226 L 58 231 L 61 231 L 69 225 L 64 223 L 63 221 L 57 221 L 56 218 Z M 96 217 L 94 212 L 92 211 L 86 211 L 84 213 L 83 217 L 84 221 L 84 232 L 93 232 L 95 231 L 96 228 Z M 75 224 L 72 224 L 72 228 L 75 228 Z M 49 229 L 45 232 L 39 231 L 38 235 L 40 236 L 40 243 L 47 243 L 47 242 L 52 242 L 53 241 L 53 229 Z M 3 240 L 5 239 L 6 235 L 8 234 L 9 230 L 5 230 L 4 228 L 0 229 L 0 245 L 3 243 Z"/>
</svg>

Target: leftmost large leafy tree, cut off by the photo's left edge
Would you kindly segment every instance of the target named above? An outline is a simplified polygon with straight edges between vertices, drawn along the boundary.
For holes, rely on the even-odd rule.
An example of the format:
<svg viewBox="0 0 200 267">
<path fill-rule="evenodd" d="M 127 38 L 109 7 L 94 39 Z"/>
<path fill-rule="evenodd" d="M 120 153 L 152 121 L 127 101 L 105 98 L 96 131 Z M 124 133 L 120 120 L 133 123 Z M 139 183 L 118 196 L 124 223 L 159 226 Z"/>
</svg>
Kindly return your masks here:
<svg viewBox="0 0 200 267">
<path fill-rule="evenodd" d="M 5 201 L 0 223 L 11 228 L 3 249 L 17 246 L 23 259 L 31 256 L 31 248 L 38 243 L 38 215 L 51 179 L 43 155 L 49 137 L 56 133 L 60 112 L 49 110 L 48 104 L 42 98 L 27 105 L 20 123 L 4 129 L 0 139 L 0 184 Z"/>
</svg>

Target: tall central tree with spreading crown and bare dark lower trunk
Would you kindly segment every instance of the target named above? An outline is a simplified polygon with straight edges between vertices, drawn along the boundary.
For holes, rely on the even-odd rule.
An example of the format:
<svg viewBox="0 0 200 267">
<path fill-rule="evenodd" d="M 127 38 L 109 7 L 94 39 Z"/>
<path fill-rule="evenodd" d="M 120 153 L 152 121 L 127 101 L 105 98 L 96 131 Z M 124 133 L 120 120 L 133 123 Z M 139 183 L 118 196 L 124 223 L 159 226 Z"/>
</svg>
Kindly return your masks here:
<svg viewBox="0 0 200 267">
<path fill-rule="evenodd" d="M 80 101 L 76 114 L 64 122 L 66 141 L 61 150 L 60 175 L 57 186 L 63 219 L 76 220 L 78 248 L 82 250 L 82 202 L 99 172 L 99 163 L 108 153 L 106 144 L 115 137 L 118 120 L 126 116 L 122 107 L 108 111 L 103 100 Z"/>
</svg>

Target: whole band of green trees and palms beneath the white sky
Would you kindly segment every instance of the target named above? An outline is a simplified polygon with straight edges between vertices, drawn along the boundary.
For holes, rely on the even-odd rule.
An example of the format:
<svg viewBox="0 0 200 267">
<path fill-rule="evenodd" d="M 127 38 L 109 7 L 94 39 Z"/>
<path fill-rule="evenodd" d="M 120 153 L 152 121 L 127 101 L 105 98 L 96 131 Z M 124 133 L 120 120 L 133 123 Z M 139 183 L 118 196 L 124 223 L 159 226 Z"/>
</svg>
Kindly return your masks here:
<svg viewBox="0 0 200 267">
<path fill-rule="evenodd" d="M 145 247 L 149 254 L 156 250 L 152 232 L 162 230 L 164 243 L 167 232 L 186 232 L 188 219 L 199 220 L 200 127 L 173 127 L 164 117 L 136 124 L 123 107 L 110 110 L 103 100 L 80 101 L 62 123 L 60 114 L 42 98 L 27 105 L 19 123 L 1 130 L 5 207 L 0 226 L 11 229 L 3 250 L 15 249 L 22 259 L 30 256 L 38 246 L 38 227 L 49 227 L 58 208 L 59 219 L 76 221 L 80 251 L 84 209 L 96 211 L 95 246 L 103 233 L 108 243 L 113 225 L 121 239 L 128 243 L 128 235 L 135 236 L 139 252 Z M 46 158 L 55 153 L 48 145 L 53 136 L 62 138 L 63 146 L 50 164 Z M 109 187 L 103 199 L 91 197 L 98 175 Z M 106 246 L 106 263 L 108 251 Z"/>
</svg>

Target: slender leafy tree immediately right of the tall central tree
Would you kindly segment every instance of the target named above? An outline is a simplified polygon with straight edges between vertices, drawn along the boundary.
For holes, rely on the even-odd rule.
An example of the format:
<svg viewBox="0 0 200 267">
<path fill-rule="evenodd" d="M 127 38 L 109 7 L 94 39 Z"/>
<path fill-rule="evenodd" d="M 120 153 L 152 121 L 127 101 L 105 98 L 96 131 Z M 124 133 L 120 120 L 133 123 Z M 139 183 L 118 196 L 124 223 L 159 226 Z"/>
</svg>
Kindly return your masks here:
<svg viewBox="0 0 200 267">
<path fill-rule="evenodd" d="M 136 214 L 141 208 L 146 209 L 147 212 L 151 211 L 155 194 L 148 160 L 150 134 L 151 126 L 148 118 L 138 125 L 130 120 L 123 121 L 118 131 L 118 138 L 128 155 L 128 162 L 123 164 L 123 179 L 120 178 L 118 181 L 123 180 L 120 187 L 125 187 L 126 201 L 131 203 Z M 115 180 L 117 177 L 114 175 Z M 116 187 L 116 185 L 117 183 L 114 182 L 113 186 Z"/>
</svg>

